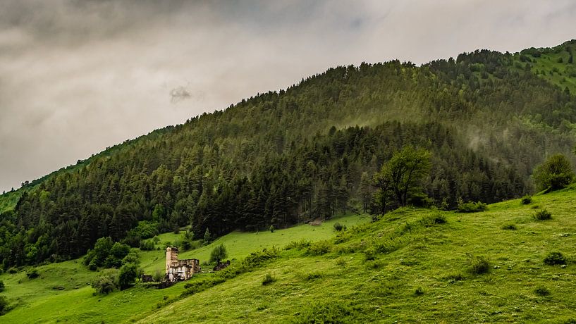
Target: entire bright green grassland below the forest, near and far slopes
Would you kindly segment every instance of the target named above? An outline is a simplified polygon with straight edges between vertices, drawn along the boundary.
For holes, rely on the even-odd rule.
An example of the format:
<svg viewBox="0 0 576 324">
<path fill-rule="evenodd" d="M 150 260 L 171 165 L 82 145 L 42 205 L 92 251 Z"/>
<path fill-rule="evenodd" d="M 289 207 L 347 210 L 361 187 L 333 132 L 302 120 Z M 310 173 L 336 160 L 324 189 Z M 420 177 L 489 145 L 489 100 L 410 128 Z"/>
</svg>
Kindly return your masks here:
<svg viewBox="0 0 576 324">
<path fill-rule="evenodd" d="M 235 232 L 182 257 L 203 260 L 214 244 L 223 243 L 235 259 L 233 269 L 250 251 L 286 247 L 301 239 L 317 241 L 289 244 L 276 258 L 195 293 L 180 283 L 168 289 L 135 287 L 93 295 L 83 283 L 92 273 L 78 268 L 76 279 L 73 271 L 80 265 L 68 261 L 41 268 L 41 274 L 54 269 L 55 276 L 42 275 L 46 287 L 37 287 L 37 295 L 25 275 L 2 275 L 8 286 L 4 294 L 22 297 L 12 297 L 21 304 L 0 321 L 574 323 L 575 203 L 572 186 L 536 196 L 531 204 L 505 201 L 482 213 L 404 208 L 373 223 L 365 216 L 348 216 L 321 227 Z M 552 213 L 551 220 L 534 218 L 543 209 Z M 348 230 L 336 235 L 331 225 L 335 221 Z M 166 234 L 161 241 L 177 238 Z M 544 263 L 553 251 L 566 256 L 565 265 Z M 142 254 L 147 270 L 163 263 L 162 251 Z M 68 275 L 75 279 L 67 281 Z M 190 282 L 216 275 L 197 275 Z M 267 275 L 271 282 L 263 285 Z M 49 288 L 55 282 L 64 282 L 66 290 Z"/>
</svg>

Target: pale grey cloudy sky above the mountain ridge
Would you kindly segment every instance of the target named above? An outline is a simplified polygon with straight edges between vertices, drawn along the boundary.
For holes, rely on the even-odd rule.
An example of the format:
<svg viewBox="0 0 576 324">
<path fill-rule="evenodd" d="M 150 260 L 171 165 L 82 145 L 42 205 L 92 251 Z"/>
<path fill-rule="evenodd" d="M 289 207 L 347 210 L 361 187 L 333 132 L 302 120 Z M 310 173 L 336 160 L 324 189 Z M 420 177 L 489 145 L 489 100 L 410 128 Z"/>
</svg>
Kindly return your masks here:
<svg viewBox="0 0 576 324">
<path fill-rule="evenodd" d="M 0 1 L 0 192 L 327 68 L 576 38 L 576 1 Z"/>
</svg>

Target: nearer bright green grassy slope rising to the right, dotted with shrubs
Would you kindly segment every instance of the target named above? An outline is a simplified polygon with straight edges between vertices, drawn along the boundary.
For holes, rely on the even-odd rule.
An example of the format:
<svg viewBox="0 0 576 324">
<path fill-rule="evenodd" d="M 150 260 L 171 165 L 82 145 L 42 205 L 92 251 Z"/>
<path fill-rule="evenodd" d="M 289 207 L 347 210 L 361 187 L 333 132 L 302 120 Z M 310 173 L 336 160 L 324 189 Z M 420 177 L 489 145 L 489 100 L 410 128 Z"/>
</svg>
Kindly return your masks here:
<svg viewBox="0 0 576 324">
<path fill-rule="evenodd" d="M 142 323 L 269 323 L 323 314 L 361 323 L 576 320 L 575 201 L 572 187 L 536 197 L 528 206 L 514 200 L 484 213 L 443 213 L 448 223 L 428 228 L 417 226 L 418 220 L 434 211 L 391 213 L 333 248 L 357 252 L 312 257 L 286 251 L 266 268 L 176 301 Z M 553 219 L 533 220 L 535 206 L 547 208 Z M 508 223 L 517 230 L 502 230 Z M 398 249 L 365 261 L 361 242 Z M 546 266 L 550 251 L 572 261 L 566 268 Z M 470 255 L 486 256 L 490 272 L 472 275 Z M 278 280 L 263 286 L 266 273 Z M 422 295 L 416 294 L 419 287 Z M 549 296 L 537 294 L 537 287 Z"/>
</svg>

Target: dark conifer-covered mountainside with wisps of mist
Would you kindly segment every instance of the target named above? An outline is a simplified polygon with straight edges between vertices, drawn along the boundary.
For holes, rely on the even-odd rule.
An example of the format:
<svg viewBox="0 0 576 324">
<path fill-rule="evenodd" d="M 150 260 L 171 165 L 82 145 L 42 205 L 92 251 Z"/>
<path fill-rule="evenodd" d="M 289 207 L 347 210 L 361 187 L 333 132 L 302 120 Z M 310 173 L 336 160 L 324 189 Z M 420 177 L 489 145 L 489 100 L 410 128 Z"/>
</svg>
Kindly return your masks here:
<svg viewBox="0 0 576 324">
<path fill-rule="evenodd" d="M 331 68 L 118 145 L 22 191 L 1 215 L 3 267 L 75 258 L 99 237 L 137 246 L 142 228 L 223 235 L 371 209 L 372 175 L 408 144 L 432 156 L 412 204 L 519 197 L 547 155 L 573 159 L 574 66 L 556 56 L 575 45 Z"/>
</svg>

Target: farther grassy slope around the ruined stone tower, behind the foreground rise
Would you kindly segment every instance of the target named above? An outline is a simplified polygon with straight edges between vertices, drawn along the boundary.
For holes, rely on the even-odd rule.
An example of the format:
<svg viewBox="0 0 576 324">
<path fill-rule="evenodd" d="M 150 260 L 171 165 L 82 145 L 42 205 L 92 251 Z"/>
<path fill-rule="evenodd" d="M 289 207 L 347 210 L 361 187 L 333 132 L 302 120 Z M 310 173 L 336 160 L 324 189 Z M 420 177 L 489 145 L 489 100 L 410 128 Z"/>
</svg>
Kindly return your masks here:
<svg viewBox="0 0 576 324">
<path fill-rule="evenodd" d="M 264 247 L 282 247 L 290 241 L 302 238 L 313 241 L 327 239 L 333 235 L 333 223 L 336 221 L 351 227 L 357 223 L 369 221 L 368 216 L 343 216 L 323 223 L 320 226 L 300 225 L 284 230 L 259 233 L 233 232 L 217 239 L 206 247 L 180 254 L 180 258 L 199 258 L 205 261 L 216 244 L 225 244 L 231 259 L 243 258 L 251 251 Z M 174 242 L 180 235 L 166 233 L 159 235 L 161 244 Z M 146 273 L 164 270 L 164 251 L 141 251 L 142 264 Z M 54 263 L 37 268 L 40 278 L 29 280 L 25 272 L 0 275 L 6 290 L 3 295 L 11 304 L 16 305 L 1 323 L 43 323 L 70 321 L 76 323 L 119 322 L 129 318 L 140 318 L 142 313 L 155 309 L 164 298 L 174 299 L 183 292 L 184 285 L 175 285 L 169 289 L 145 289 L 137 287 L 123 292 L 114 292 L 108 296 L 94 296 L 89 285 L 97 275 L 85 266 L 81 260 Z M 209 274 L 207 274 L 209 275 Z M 200 278 L 202 278 L 200 276 Z M 59 290 L 62 289 L 63 290 Z M 55 289 L 59 288 L 59 289 Z"/>
</svg>

